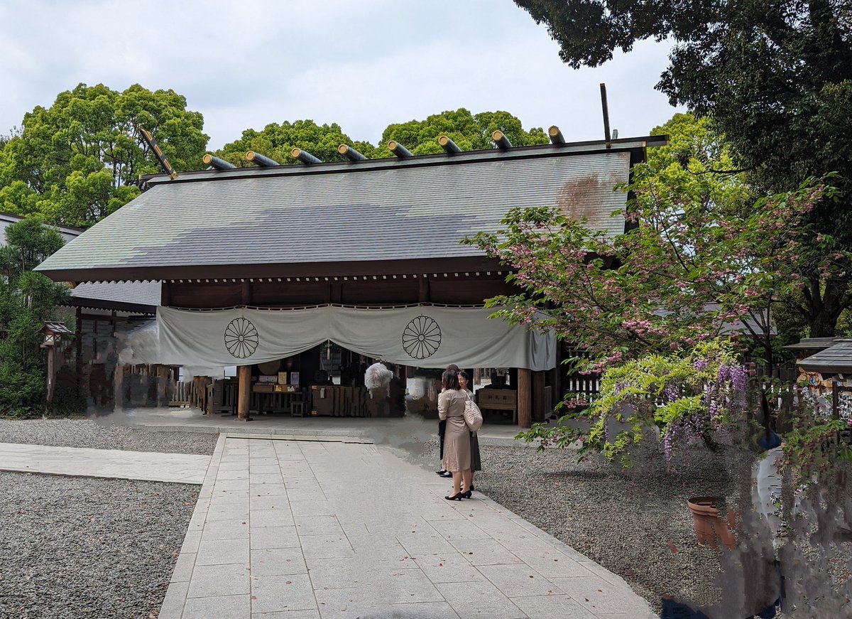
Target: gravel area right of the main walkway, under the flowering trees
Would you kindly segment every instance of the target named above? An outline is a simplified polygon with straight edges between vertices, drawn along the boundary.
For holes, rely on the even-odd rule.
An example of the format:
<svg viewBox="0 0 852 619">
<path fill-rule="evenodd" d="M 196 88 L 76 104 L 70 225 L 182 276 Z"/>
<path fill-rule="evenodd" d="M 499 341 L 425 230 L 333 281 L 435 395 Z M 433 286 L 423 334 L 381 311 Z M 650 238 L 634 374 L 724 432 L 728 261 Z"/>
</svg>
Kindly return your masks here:
<svg viewBox="0 0 852 619">
<path fill-rule="evenodd" d="M 740 482 L 728 471 L 747 466 L 682 457 L 676 471 L 661 459 L 623 471 L 598 457 L 578 464 L 556 449 L 483 445 L 481 454 L 477 489 L 622 576 L 657 610 L 663 595 L 699 605 L 719 599 L 719 553 L 698 547 L 687 499 L 734 504 Z"/>
</svg>

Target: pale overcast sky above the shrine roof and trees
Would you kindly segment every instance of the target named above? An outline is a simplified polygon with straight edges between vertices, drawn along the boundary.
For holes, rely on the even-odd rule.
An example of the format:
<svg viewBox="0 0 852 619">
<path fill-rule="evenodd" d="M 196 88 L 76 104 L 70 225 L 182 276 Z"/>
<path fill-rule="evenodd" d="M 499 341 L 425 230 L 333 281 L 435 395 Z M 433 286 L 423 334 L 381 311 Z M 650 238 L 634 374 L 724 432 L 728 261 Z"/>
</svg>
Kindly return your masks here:
<svg viewBox="0 0 852 619">
<path fill-rule="evenodd" d="M 210 149 L 296 119 L 376 143 L 390 123 L 458 107 L 598 139 L 601 82 L 620 136 L 676 111 L 653 90 L 665 43 L 575 71 L 511 0 L 6 0 L 0 24 L 2 134 L 79 82 L 176 90 L 204 114 Z"/>
</svg>

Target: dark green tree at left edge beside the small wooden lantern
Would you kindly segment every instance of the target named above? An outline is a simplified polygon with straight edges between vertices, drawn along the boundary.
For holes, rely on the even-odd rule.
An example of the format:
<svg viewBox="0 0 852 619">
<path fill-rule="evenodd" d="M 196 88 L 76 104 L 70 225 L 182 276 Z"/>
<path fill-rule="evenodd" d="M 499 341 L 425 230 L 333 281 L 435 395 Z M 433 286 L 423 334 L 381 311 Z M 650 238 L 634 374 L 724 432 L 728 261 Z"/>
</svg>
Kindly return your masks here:
<svg viewBox="0 0 852 619">
<path fill-rule="evenodd" d="M 40 348 L 43 321 L 57 320 L 68 286 L 33 268 L 63 244 L 55 229 L 37 217 L 6 228 L 0 247 L 0 415 L 42 413 L 47 358 Z"/>
</svg>

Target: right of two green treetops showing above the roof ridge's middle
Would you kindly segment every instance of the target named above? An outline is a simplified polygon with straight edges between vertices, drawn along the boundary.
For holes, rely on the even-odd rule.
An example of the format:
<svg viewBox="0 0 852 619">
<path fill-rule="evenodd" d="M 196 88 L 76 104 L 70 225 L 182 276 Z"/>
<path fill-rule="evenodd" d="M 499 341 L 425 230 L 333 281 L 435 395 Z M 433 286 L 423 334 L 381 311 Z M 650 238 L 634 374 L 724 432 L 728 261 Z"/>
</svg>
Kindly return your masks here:
<svg viewBox="0 0 852 619">
<path fill-rule="evenodd" d="M 521 121 L 508 112 L 481 112 L 472 114 L 463 107 L 458 110 L 432 114 L 425 120 L 389 124 L 382 134 L 377 157 L 392 157 L 388 142 L 395 140 L 413 154 L 443 153 L 438 144 L 440 136 L 447 136 L 462 150 L 493 148 L 492 133 L 501 130 L 512 146 L 546 144 L 548 137 L 541 128 L 524 130 Z"/>
</svg>

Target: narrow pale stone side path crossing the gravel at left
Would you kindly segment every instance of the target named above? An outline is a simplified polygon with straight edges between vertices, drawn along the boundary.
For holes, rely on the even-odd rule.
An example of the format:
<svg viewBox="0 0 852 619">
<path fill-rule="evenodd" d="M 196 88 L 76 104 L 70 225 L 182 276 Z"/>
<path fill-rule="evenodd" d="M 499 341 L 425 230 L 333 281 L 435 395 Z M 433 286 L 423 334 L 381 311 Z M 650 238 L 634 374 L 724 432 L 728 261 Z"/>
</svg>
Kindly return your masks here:
<svg viewBox="0 0 852 619">
<path fill-rule="evenodd" d="M 0 443 L 0 471 L 203 483 L 209 455 Z"/>
</svg>

